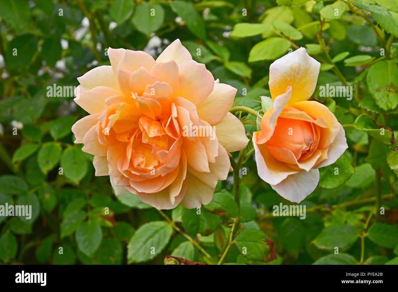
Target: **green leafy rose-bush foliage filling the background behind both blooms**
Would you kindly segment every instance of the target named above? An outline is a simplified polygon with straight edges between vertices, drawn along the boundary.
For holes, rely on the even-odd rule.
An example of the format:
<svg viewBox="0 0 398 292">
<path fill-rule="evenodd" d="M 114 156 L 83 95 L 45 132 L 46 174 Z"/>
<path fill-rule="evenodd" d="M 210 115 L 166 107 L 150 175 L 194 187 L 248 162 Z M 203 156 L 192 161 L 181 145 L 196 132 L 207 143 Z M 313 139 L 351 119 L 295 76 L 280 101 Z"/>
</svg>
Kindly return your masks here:
<svg viewBox="0 0 398 292">
<path fill-rule="evenodd" d="M 398 263 L 397 0 L 0 0 L 0 17 L 0 205 L 33 209 L 31 220 L 0 217 L 0 263 L 162 264 L 173 255 L 214 264 L 226 247 L 223 263 Z M 236 104 L 256 110 L 274 60 L 304 46 L 322 63 L 313 98 L 343 124 L 349 149 L 320 169 L 301 203 L 306 219 L 272 215 L 273 205 L 292 203 L 258 178 L 251 142 L 239 158 L 240 228 L 232 174 L 201 215 L 181 206 L 159 213 L 94 176 L 70 130 L 86 112 L 73 97 L 47 97 L 47 86 L 77 86 L 76 77 L 109 65 L 109 46 L 156 57 L 177 38 L 238 89 Z M 320 97 L 326 83 L 352 86 L 352 100 Z M 239 117 L 252 134 L 256 118 Z M 265 263 L 269 240 L 277 259 Z"/>
</svg>

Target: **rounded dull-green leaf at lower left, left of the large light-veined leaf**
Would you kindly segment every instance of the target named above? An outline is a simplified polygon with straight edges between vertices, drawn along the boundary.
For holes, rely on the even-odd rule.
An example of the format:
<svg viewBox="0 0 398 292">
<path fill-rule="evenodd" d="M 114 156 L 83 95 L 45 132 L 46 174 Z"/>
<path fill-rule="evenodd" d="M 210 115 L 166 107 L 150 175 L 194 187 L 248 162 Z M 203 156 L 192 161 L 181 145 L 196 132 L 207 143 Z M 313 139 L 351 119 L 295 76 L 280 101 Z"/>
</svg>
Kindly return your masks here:
<svg viewBox="0 0 398 292">
<path fill-rule="evenodd" d="M 92 221 L 84 222 L 77 228 L 75 236 L 78 248 L 90 257 L 100 246 L 101 226 Z"/>
</svg>

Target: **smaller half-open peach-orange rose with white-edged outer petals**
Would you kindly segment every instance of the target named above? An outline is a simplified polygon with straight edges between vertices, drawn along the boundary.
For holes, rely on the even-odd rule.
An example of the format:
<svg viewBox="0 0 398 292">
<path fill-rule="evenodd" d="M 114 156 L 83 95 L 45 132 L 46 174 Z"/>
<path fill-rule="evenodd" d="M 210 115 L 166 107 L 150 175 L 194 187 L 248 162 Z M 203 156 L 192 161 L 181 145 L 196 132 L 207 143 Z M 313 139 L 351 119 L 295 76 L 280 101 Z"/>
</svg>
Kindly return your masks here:
<svg viewBox="0 0 398 292">
<path fill-rule="evenodd" d="M 315 190 L 318 168 L 348 148 L 345 132 L 314 93 L 320 63 L 299 48 L 273 62 L 269 90 L 274 101 L 254 132 L 258 175 L 285 199 L 300 203 Z"/>
</svg>

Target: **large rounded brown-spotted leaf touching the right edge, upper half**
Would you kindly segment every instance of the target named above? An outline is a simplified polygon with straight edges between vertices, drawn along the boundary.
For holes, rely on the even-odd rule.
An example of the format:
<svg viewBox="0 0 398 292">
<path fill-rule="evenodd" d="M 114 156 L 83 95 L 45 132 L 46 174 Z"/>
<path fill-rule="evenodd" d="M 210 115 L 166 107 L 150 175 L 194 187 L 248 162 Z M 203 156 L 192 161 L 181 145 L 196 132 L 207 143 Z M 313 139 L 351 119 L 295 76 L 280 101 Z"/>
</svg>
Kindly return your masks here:
<svg viewBox="0 0 398 292">
<path fill-rule="evenodd" d="M 376 104 L 384 109 L 394 109 L 398 105 L 398 65 L 382 60 L 369 68 L 367 85 Z"/>
</svg>

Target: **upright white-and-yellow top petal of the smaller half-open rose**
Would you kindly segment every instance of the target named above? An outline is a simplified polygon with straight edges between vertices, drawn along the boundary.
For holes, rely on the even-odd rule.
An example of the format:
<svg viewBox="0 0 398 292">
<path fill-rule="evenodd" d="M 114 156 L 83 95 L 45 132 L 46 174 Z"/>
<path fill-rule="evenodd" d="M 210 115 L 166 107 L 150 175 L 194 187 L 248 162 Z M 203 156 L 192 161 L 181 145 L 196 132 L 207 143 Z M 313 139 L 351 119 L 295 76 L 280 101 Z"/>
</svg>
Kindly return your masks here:
<svg viewBox="0 0 398 292">
<path fill-rule="evenodd" d="M 269 90 L 272 99 L 285 92 L 291 85 L 293 92 L 287 106 L 306 101 L 314 93 L 318 79 L 320 63 L 310 57 L 304 48 L 299 48 L 269 67 Z"/>
</svg>

